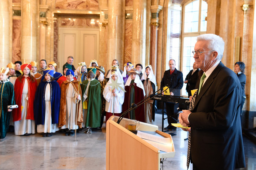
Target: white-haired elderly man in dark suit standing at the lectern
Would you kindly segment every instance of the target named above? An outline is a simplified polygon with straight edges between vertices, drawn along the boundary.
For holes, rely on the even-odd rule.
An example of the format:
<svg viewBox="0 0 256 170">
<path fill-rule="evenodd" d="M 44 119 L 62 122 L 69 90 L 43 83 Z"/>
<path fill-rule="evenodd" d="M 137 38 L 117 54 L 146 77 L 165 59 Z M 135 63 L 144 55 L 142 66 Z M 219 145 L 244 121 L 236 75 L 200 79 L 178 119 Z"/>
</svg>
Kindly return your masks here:
<svg viewBox="0 0 256 170">
<path fill-rule="evenodd" d="M 195 170 L 245 167 L 241 84 L 237 75 L 221 62 L 224 45 L 221 37 L 203 34 L 197 37 L 193 51 L 196 67 L 204 74 L 193 109 L 183 110 L 179 119 L 181 125 L 191 126 L 188 156 Z"/>
</svg>

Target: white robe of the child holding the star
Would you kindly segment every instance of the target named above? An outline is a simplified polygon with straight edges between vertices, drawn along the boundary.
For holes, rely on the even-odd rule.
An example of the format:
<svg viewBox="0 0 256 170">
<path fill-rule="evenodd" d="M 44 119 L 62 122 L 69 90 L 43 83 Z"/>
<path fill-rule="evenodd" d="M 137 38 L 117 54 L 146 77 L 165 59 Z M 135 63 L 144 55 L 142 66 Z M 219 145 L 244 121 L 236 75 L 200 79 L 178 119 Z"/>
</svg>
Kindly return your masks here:
<svg viewBox="0 0 256 170">
<path fill-rule="evenodd" d="M 118 78 L 119 79 L 119 78 Z M 112 90 L 111 90 L 111 84 L 112 78 L 110 77 L 108 83 L 105 85 L 103 96 L 106 100 L 105 105 L 105 111 L 109 113 L 121 113 L 122 112 L 122 105 L 124 103 L 124 92 L 117 88 L 116 92 L 117 96 L 113 96 Z M 121 81 L 118 81 L 118 83 L 121 83 L 120 86 L 124 89 L 124 84 Z"/>
</svg>

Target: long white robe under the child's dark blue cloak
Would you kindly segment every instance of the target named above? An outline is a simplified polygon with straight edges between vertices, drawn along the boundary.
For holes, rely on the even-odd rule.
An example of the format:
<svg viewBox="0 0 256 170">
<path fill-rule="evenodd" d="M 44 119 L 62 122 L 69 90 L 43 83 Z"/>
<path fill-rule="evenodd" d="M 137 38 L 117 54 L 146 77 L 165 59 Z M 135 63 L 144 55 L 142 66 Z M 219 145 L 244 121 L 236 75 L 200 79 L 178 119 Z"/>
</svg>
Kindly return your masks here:
<svg viewBox="0 0 256 170">
<path fill-rule="evenodd" d="M 48 83 L 45 88 L 45 124 L 38 125 L 38 133 L 55 133 L 59 128 L 57 124 L 52 124 L 52 108 L 51 108 L 51 86 Z"/>
</svg>

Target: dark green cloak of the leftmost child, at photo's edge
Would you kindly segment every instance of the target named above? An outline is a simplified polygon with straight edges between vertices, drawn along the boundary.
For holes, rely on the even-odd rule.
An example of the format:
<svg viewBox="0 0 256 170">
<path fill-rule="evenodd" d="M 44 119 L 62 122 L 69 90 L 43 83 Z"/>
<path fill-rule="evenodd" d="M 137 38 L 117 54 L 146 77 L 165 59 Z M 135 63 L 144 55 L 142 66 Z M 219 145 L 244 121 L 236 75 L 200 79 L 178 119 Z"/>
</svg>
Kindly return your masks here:
<svg viewBox="0 0 256 170">
<path fill-rule="evenodd" d="M 3 139 L 6 136 L 11 116 L 7 107 L 15 105 L 14 88 L 8 79 L 0 81 L 0 95 L 0 139 Z"/>
</svg>

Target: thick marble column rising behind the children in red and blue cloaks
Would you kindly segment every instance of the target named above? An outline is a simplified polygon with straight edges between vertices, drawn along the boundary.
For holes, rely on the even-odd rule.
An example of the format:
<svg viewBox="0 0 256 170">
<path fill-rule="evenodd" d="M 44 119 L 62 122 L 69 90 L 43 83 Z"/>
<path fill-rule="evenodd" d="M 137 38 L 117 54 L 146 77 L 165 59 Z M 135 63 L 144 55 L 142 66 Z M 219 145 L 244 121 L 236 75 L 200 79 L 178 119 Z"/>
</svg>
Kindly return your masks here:
<svg viewBox="0 0 256 170">
<path fill-rule="evenodd" d="M 21 1 L 22 43 L 21 61 L 30 63 L 37 61 L 37 31 L 39 21 L 39 6 L 37 0 Z"/>
</svg>

